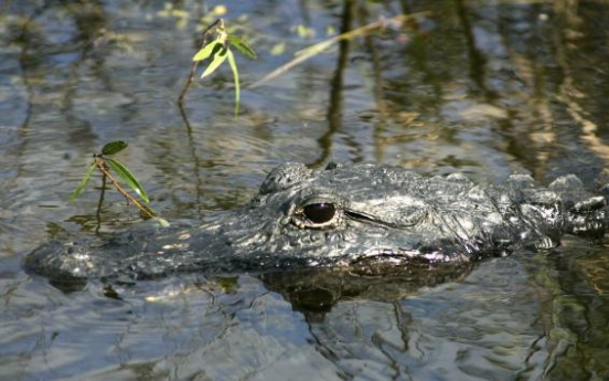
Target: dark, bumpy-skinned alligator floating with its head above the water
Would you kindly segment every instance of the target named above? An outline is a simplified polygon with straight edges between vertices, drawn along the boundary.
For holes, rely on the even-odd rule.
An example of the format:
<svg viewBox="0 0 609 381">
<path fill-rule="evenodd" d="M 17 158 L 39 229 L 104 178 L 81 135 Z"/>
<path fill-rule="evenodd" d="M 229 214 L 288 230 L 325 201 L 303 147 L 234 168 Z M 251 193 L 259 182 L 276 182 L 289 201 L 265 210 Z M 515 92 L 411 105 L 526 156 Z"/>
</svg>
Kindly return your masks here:
<svg viewBox="0 0 609 381">
<path fill-rule="evenodd" d="M 591 197 L 575 176 L 547 188 L 528 176 L 481 187 L 463 174 L 286 163 L 248 205 L 201 226 L 145 225 L 111 239 L 53 241 L 25 266 L 53 278 L 129 279 L 311 266 L 408 271 L 551 248 L 564 234 L 597 241 L 607 221 L 605 198 Z"/>
</svg>

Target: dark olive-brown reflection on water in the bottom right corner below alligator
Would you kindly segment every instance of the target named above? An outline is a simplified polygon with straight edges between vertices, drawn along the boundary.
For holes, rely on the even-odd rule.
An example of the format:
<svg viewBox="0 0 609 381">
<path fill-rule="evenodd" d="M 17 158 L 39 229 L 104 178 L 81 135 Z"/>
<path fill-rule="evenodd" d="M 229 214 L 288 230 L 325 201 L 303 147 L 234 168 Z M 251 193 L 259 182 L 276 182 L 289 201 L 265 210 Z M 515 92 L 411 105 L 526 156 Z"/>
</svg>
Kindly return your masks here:
<svg viewBox="0 0 609 381">
<path fill-rule="evenodd" d="M 573 380 L 609 375 L 609 297 L 606 250 L 580 247 L 534 263 L 535 281 L 549 297 L 546 316 L 552 361 L 547 374 Z"/>
</svg>

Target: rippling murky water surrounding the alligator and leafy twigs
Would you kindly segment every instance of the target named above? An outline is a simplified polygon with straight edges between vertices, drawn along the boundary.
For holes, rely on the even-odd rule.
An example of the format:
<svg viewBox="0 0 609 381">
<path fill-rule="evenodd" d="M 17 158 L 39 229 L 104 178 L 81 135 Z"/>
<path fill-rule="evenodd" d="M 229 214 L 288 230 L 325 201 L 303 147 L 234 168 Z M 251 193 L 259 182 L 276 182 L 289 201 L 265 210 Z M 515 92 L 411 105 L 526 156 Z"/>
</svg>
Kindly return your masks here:
<svg viewBox="0 0 609 381">
<path fill-rule="evenodd" d="M 323 277 L 322 304 L 255 274 L 120 299 L 25 274 L 52 236 L 141 223 L 116 194 L 96 215 L 94 187 L 67 202 L 110 140 L 169 220 L 241 205 L 288 160 L 607 182 L 606 1 L 231 2 L 259 54 L 237 57 L 244 85 L 340 30 L 418 15 L 243 88 L 238 119 L 223 67 L 190 89 L 186 125 L 177 98 L 216 4 L 0 3 L 0 379 L 609 379 L 609 252 L 575 240 L 442 282 Z"/>
</svg>

